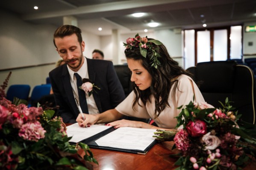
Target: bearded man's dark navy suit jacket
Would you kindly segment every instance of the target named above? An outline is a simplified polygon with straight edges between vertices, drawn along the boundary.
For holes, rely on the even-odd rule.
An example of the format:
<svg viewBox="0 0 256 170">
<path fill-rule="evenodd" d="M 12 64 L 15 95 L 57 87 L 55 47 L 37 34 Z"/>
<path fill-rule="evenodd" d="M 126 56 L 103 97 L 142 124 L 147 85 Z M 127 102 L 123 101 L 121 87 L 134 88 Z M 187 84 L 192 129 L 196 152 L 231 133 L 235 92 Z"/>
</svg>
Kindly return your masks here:
<svg viewBox="0 0 256 170">
<path fill-rule="evenodd" d="M 85 60 L 87 60 L 89 79 L 100 88 L 100 90 L 95 89 L 97 93 L 93 92 L 99 112 L 114 109 L 124 100 L 125 95 L 113 63 L 88 58 Z M 67 64 L 53 69 L 49 77 L 56 105 L 59 106 L 58 114 L 65 123 L 75 123 L 79 110 L 74 99 Z"/>
</svg>

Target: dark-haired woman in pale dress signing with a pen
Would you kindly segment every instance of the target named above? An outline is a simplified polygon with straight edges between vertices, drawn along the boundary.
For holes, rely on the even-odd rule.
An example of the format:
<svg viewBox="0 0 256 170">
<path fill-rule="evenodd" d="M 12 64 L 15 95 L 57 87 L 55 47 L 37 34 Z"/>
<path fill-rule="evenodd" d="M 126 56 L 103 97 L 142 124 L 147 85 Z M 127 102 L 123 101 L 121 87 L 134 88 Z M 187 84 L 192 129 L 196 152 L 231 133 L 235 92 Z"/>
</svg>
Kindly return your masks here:
<svg viewBox="0 0 256 170">
<path fill-rule="evenodd" d="M 177 125 L 176 116 L 180 106 L 190 101 L 204 102 L 203 95 L 190 74 L 178 65 L 167 52 L 166 47 L 147 37 L 128 38 L 124 51 L 131 70 L 133 91 L 115 109 L 97 115 L 81 114 L 77 122 L 81 127 L 96 123 L 107 126 L 138 127 L 171 130 Z M 159 127 L 140 121 L 119 120 L 124 115 L 137 118 L 152 118 Z M 110 122 L 110 123 L 109 123 Z"/>
</svg>

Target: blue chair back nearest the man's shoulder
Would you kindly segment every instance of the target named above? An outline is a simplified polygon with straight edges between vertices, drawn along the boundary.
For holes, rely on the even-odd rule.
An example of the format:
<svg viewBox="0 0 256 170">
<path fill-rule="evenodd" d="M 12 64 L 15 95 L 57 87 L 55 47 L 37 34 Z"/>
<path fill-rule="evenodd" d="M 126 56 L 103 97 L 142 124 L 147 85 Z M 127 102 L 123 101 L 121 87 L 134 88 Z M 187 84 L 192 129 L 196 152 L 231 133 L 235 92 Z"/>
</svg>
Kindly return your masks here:
<svg viewBox="0 0 256 170">
<path fill-rule="evenodd" d="M 51 84 L 37 85 L 33 88 L 29 99 L 29 107 L 37 107 L 38 101 L 44 96 L 49 95 Z"/>
</svg>

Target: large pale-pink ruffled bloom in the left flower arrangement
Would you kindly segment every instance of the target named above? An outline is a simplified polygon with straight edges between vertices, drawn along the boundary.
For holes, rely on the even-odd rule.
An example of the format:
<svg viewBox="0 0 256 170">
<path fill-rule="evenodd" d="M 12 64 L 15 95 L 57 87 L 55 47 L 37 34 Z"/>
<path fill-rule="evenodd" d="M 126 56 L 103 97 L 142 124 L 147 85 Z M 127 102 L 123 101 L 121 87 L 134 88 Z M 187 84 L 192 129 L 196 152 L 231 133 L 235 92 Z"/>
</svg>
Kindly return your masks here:
<svg viewBox="0 0 256 170">
<path fill-rule="evenodd" d="M 19 136 L 28 141 L 38 141 L 44 138 L 44 133 L 46 133 L 46 130 L 44 130 L 39 121 L 36 121 L 23 124 L 19 131 Z"/>
</svg>

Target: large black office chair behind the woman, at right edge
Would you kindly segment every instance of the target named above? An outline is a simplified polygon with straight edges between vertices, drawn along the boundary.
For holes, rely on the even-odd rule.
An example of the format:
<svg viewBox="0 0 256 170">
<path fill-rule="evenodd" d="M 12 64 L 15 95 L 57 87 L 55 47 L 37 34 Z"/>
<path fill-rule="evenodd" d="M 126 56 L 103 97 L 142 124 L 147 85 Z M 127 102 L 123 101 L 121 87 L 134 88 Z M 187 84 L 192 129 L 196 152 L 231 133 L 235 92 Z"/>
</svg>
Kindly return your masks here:
<svg viewBox="0 0 256 170">
<path fill-rule="evenodd" d="M 221 107 L 228 97 L 231 105 L 241 114 L 241 119 L 255 124 L 255 78 L 252 70 L 235 61 L 210 61 L 198 63 L 187 69 L 205 101 L 214 107 Z"/>
</svg>

